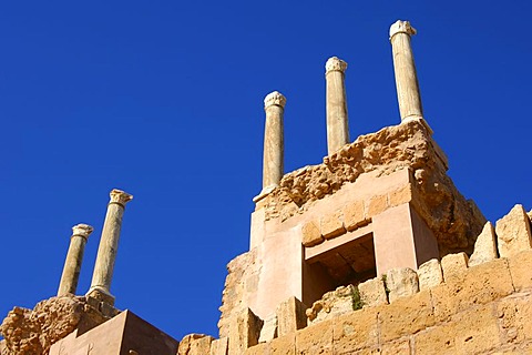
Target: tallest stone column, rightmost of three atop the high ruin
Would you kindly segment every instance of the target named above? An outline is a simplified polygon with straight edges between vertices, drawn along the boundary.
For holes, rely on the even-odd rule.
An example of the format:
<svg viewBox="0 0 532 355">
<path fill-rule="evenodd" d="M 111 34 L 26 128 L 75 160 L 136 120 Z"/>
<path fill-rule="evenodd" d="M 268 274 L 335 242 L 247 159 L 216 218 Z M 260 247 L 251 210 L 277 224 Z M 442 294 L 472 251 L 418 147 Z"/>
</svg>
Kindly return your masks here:
<svg viewBox="0 0 532 355">
<path fill-rule="evenodd" d="M 398 20 L 390 27 L 390 42 L 396 72 L 397 99 L 401 122 L 410 119 L 422 119 L 423 109 L 419 93 L 418 75 L 413 62 L 410 37 L 416 29 L 408 21 Z"/>
</svg>

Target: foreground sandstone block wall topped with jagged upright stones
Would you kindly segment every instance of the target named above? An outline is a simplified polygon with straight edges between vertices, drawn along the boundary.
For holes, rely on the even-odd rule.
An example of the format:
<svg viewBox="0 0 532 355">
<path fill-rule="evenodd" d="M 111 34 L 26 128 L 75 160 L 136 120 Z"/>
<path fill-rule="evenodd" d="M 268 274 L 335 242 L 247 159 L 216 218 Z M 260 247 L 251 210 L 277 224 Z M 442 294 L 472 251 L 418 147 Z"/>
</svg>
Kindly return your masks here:
<svg viewBox="0 0 532 355">
<path fill-rule="evenodd" d="M 180 354 L 532 353 L 531 216 L 515 205 L 487 223 L 471 258 L 449 254 L 330 292 L 304 325 L 297 305 L 282 305 L 275 322 L 242 310 L 227 325 L 239 334 L 188 336 Z"/>
</svg>

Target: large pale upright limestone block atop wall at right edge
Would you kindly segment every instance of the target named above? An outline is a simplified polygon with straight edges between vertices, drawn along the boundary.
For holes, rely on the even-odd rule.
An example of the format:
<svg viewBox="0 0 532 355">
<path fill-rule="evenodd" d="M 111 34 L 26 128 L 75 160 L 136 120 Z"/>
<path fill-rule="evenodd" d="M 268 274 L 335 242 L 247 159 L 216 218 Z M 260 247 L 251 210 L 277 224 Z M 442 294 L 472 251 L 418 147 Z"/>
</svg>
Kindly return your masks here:
<svg viewBox="0 0 532 355">
<path fill-rule="evenodd" d="M 530 217 L 521 204 L 513 206 L 510 213 L 497 221 L 495 233 L 501 257 L 532 248 Z"/>
</svg>

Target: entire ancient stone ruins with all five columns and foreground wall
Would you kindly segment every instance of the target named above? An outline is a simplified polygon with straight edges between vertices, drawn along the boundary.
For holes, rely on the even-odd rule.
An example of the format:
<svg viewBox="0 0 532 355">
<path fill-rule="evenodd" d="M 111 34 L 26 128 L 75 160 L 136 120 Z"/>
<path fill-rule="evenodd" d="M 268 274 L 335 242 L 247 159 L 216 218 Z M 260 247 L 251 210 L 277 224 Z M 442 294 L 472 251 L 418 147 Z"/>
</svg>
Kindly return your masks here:
<svg viewBox="0 0 532 355">
<path fill-rule="evenodd" d="M 326 64 L 323 163 L 284 173 L 284 108 L 265 98 L 263 186 L 235 257 L 219 334 L 181 342 L 110 286 L 122 214 L 113 190 L 91 290 L 74 296 L 91 227 L 74 227 L 58 297 L 0 326 L 11 354 L 524 354 L 532 352 L 532 211 L 493 225 L 447 174 L 423 118 L 408 21 L 390 28 L 400 120 L 349 141 L 345 72 Z M 74 239 L 75 236 L 75 239 Z"/>
</svg>

